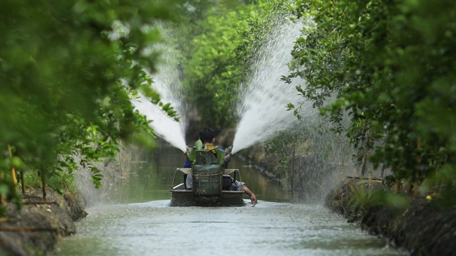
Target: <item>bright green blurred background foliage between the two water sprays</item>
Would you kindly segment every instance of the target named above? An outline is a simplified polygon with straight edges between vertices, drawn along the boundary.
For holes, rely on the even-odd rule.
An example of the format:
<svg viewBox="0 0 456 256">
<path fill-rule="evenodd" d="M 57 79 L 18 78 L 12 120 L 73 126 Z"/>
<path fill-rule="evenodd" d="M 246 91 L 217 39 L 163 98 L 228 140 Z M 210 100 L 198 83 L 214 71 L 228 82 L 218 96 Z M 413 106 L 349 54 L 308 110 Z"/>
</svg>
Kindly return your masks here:
<svg viewBox="0 0 456 256">
<path fill-rule="evenodd" d="M 217 5 L 197 21 L 199 31 L 193 31 L 197 34 L 184 53 L 185 86 L 190 102 L 207 125 L 234 125 L 239 86 L 271 28 L 274 7 L 281 2 L 256 1 L 231 9 Z"/>
</svg>

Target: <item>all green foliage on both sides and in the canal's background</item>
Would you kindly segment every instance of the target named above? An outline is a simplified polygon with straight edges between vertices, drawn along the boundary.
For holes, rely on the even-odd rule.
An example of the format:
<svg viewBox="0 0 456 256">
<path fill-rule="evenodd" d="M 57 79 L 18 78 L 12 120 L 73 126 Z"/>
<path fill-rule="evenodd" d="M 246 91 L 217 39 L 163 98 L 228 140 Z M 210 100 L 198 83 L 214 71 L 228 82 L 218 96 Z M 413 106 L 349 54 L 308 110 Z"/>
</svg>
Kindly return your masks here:
<svg viewBox="0 0 456 256">
<path fill-rule="evenodd" d="M 204 125 L 235 127 L 239 86 L 274 28 L 274 17 L 287 11 L 306 26 L 284 80 L 307 81 L 296 89 L 326 114 L 333 132 L 356 147 L 361 174 L 371 161 L 391 169 L 390 183 L 405 180 L 415 193 L 423 181 L 452 187 L 453 1 L 163 2 L 1 1 L 2 203 L 20 203 L 15 171 L 43 184 L 50 178 L 58 188 L 65 185 L 53 179 L 71 183 L 67 174 L 79 165 L 90 169 L 99 186 L 101 176 L 91 162 L 114 158 L 120 140 L 151 144 L 149 121 L 133 110 L 130 99 L 141 90 L 175 117 L 150 90 L 152 79 L 145 73 L 153 73 L 160 55 L 153 46 L 165 40 L 180 57 L 185 100 Z M 167 26 L 171 36 L 162 37 L 157 24 L 176 20 L 181 22 Z M 298 102 L 288 107 L 299 116 Z M 295 149 L 321 144 L 307 129 L 266 144 L 266 153 L 280 161 L 278 174 L 291 186 Z"/>
</svg>

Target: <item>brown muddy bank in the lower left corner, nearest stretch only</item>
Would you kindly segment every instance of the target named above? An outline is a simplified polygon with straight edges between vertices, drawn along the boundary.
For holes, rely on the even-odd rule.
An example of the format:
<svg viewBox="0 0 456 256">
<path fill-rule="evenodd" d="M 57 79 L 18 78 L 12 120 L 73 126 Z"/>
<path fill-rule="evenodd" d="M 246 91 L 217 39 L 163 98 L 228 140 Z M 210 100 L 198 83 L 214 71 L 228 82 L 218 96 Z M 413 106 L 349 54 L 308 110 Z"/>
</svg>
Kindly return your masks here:
<svg viewBox="0 0 456 256">
<path fill-rule="evenodd" d="M 9 217 L 0 220 L 0 255 L 46 255 L 59 237 L 76 233 L 74 221 L 87 215 L 81 201 L 71 193 L 48 190 L 47 195 L 43 201 L 41 191 L 29 190 L 21 210 L 7 205 Z"/>
</svg>

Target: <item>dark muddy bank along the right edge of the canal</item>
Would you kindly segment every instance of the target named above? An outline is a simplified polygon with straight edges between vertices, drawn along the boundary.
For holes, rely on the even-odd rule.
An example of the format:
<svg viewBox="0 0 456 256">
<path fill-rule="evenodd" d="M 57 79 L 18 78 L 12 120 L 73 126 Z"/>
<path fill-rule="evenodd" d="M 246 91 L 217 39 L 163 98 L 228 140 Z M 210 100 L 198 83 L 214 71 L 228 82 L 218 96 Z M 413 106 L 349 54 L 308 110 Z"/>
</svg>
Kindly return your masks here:
<svg viewBox="0 0 456 256">
<path fill-rule="evenodd" d="M 410 255 L 455 255 L 455 206 L 442 208 L 433 199 L 409 195 L 390 201 L 396 204 L 368 200 L 387 192 L 380 181 L 346 180 L 328 194 L 326 206 Z"/>
</svg>

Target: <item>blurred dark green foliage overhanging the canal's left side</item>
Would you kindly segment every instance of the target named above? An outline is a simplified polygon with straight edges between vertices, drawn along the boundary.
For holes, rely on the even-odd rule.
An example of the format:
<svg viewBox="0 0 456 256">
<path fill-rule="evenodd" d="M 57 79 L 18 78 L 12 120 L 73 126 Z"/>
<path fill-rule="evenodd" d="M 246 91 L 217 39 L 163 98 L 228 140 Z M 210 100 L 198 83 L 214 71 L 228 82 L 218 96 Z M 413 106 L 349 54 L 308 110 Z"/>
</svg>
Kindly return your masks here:
<svg viewBox="0 0 456 256">
<path fill-rule="evenodd" d="M 1 195 L 18 198 L 11 167 L 52 174 L 74 169 L 76 154 L 96 161 L 113 156 L 119 139 L 152 139 L 129 90 L 145 87 L 143 68 L 155 68 L 158 53 L 148 49 L 160 33 L 147 26 L 169 16 L 151 1 L 1 1 Z"/>
</svg>

